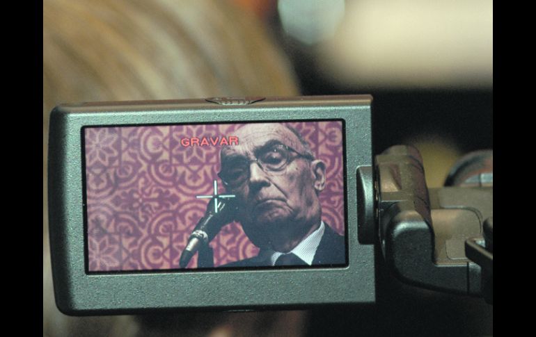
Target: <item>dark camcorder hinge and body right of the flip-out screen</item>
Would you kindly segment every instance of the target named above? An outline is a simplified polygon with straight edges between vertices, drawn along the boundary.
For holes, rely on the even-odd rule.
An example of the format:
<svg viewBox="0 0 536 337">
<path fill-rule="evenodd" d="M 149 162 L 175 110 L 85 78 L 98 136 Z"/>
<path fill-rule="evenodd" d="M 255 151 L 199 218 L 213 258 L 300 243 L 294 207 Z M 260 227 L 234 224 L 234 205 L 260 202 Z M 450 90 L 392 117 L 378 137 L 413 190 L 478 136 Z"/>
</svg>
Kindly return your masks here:
<svg viewBox="0 0 536 337">
<path fill-rule="evenodd" d="M 361 169 L 358 185 L 372 174 Z M 388 268 L 405 283 L 493 304 L 493 151 L 462 158 L 443 188 L 427 188 L 423 159 L 405 145 L 376 156 L 373 174 L 374 202 L 358 206 L 377 210 L 379 225 L 364 223 L 360 242 L 379 238 Z"/>
</svg>

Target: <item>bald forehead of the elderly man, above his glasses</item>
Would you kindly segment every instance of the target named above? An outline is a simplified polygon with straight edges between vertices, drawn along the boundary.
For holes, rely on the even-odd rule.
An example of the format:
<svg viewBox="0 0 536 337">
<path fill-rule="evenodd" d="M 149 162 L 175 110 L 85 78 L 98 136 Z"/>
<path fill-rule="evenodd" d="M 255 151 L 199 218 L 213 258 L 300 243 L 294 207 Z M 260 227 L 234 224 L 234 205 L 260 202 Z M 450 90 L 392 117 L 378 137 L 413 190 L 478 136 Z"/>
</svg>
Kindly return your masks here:
<svg viewBox="0 0 536 337">
<path fill-rule="evenodd" d="M 302 151 L 302 145 L 297 135 L 282 124 L 263 123 L 247 124 L 233 133 L 238 138 L 238 145 L 222 147 L 221 154 L 250 154 L 269 141 L 276 140 L 297 151 Z"/>
</svg>

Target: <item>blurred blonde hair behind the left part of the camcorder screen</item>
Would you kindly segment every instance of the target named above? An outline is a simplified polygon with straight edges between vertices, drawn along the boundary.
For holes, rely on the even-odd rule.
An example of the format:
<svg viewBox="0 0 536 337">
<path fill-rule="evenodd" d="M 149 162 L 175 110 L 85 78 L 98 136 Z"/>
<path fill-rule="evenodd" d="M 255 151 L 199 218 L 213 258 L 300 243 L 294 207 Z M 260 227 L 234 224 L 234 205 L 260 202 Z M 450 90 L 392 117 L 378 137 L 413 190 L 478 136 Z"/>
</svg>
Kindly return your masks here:
<svg viewBox="0 0 536 337">
<path fill-rule="evenodd" d="M 48 116 L 54 106 L 74 101 L 297 94 L 290 64 L 271 36 L 254 17 L 229 1 L 45 0 L 43 335 L 167 336 L 187 328 L 171 324 L 175 330 L 145 329 L 143 320 L 132 316 L 71 318 L 56 309 L 46 202 Z M 255 327 L 262 321 L 260 315 L 237 315 L 218 316 L 224 324 L 216 330 L 207 326 L 194 332 L 258 334 Z M 272 315 L 265 336 L 281 336 L 282 332 L 295 336 L 301 331 L 296 324 L 301 322 L 300 313 Z M 242 330 L 237 330 L 235 321 Z M 288 325 L 290 321 L 293 324 Z"/>
</svg>

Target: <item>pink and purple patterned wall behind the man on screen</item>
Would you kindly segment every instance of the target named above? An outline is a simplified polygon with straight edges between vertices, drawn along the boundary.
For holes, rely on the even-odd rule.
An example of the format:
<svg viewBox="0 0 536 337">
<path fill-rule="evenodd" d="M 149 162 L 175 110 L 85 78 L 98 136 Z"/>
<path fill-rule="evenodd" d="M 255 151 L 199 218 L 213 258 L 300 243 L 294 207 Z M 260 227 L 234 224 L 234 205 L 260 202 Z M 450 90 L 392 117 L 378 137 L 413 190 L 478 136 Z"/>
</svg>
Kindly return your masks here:
<svg viewBox="0 0 536 337">
<path fill-rule="evenodd" d="M 344 234 L 342 122 L 285 124 L 304 135 L 326 163 L 322 219 Z M 214 192 L 220 151 L 219 146 L 183 147 L 180 140 L 232 135 L 242 125 L 86 128 L 89 271 L 178 268 L 209 201 L 196 195 Z M 216 267 L 258 253 L 237 223 L 223 227 L 210 245 Z M 196 266 L 197 255 L 188 268 Z"/>
</svg>

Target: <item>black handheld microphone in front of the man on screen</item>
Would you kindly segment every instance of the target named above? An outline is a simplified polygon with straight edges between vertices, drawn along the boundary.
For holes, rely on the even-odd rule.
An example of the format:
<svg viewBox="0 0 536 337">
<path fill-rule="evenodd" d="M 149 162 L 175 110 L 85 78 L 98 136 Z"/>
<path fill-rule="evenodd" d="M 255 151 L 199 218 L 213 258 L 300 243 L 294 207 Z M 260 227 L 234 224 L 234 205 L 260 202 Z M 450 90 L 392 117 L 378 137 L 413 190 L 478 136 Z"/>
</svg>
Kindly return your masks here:
<svg viewBox="0 0 536 337">
<path fill-rule="evenodd" d="M 227 199 L 219 195 L 214 195 L 210 199 L 205 215 L 201 217 L 194 231 L 190 234 L 186 248 L 180 255 L 180 268 L 186 268 L 198 249 L 203 244 L 208 245 L 214 236 L 219 233 L 223 225 L 235 220 L 237 206 L 233 199 Z"/>
</svg>

